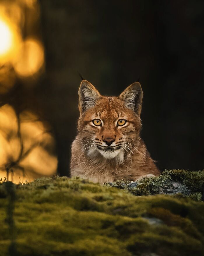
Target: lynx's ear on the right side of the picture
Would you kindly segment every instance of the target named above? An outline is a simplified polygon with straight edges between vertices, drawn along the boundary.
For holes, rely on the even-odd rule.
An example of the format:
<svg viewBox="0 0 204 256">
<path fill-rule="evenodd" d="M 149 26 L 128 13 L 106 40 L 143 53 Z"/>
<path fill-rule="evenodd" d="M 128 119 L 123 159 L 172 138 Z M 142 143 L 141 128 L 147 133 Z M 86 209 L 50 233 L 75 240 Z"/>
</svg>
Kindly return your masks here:
<svg viewBox="0 0 204 256">
<path fill-rule="evenodd" d="M 139 82 L 128 86 L 119 96 L 125 102 L 125 106 L 132 109 L 140 116 L 142 109 L 143 91 Z"/>
</svg>

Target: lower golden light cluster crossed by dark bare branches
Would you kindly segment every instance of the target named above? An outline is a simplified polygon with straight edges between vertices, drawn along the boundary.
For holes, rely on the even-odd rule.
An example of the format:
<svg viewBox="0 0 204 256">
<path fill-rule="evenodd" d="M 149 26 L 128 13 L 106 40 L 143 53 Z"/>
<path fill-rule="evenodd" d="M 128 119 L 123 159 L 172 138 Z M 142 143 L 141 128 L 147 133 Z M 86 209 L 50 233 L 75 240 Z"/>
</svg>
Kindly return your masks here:
<svg viewBox="0 0 204 256">
<path fill-rule="evenodd" d="M 19 183 L 55 174 L 53 136 L 31 111 L 23 111 L 19 118 L 20 137 L 14 109 L 9 104 L 0 108 L 0 178 Z"/>
</svg>

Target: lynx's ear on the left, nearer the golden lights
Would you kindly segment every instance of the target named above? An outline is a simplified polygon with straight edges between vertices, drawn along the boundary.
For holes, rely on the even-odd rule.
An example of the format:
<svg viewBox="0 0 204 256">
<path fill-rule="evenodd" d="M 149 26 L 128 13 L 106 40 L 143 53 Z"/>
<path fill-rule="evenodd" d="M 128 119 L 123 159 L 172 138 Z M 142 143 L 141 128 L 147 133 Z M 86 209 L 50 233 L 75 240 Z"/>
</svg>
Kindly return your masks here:
<svg viewBox="0 0 204 256">
<path fill-rule="evenodd" d="M 101 97 L 96 88 L 86 80 L 82 80 L 79 87 L 79 111 L 84 112 L 93 107 L 96 100 Z"/>
</svg>

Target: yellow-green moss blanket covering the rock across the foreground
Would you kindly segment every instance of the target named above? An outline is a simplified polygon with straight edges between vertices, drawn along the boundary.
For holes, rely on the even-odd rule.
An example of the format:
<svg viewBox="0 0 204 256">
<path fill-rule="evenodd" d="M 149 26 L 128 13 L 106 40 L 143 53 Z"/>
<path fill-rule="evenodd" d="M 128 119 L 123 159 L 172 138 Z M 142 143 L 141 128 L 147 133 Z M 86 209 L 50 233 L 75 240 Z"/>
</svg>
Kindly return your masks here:
<svg viewBox="0 0 204 256">
<path fill-rule="evenodd" d="M 191 181 L 182 171 L 169 173 L 201 193 L 202 172 Z M 181 194 L 151 195 L 156 179 L 157 187 L 161 176 L 139 181 L 143 190 L 135 194 L 58 176 L 2 183 L 0 255 L 204 255 L 204 203 Z M 135 196 L 143 194 L 143 182 L 149 192 Z"/>
</svg>

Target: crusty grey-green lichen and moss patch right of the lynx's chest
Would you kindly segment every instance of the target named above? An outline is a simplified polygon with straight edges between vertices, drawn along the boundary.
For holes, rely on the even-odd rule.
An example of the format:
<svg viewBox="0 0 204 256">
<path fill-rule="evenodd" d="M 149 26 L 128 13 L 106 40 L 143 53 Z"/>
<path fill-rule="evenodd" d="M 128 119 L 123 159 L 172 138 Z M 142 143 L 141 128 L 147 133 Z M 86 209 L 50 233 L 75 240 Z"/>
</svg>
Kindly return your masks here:
<svg viewBox="0 0 204 256">
<path fill-rule="evenodd" d="M 105 185 L 128 190 L 134 195 L 182 193 L 196 201 L 201 201 L 203 184 L 204 171 L 166 170 L 159 177 L 144 177 L 136 183 L 116 181 Z"/>
</svg>

